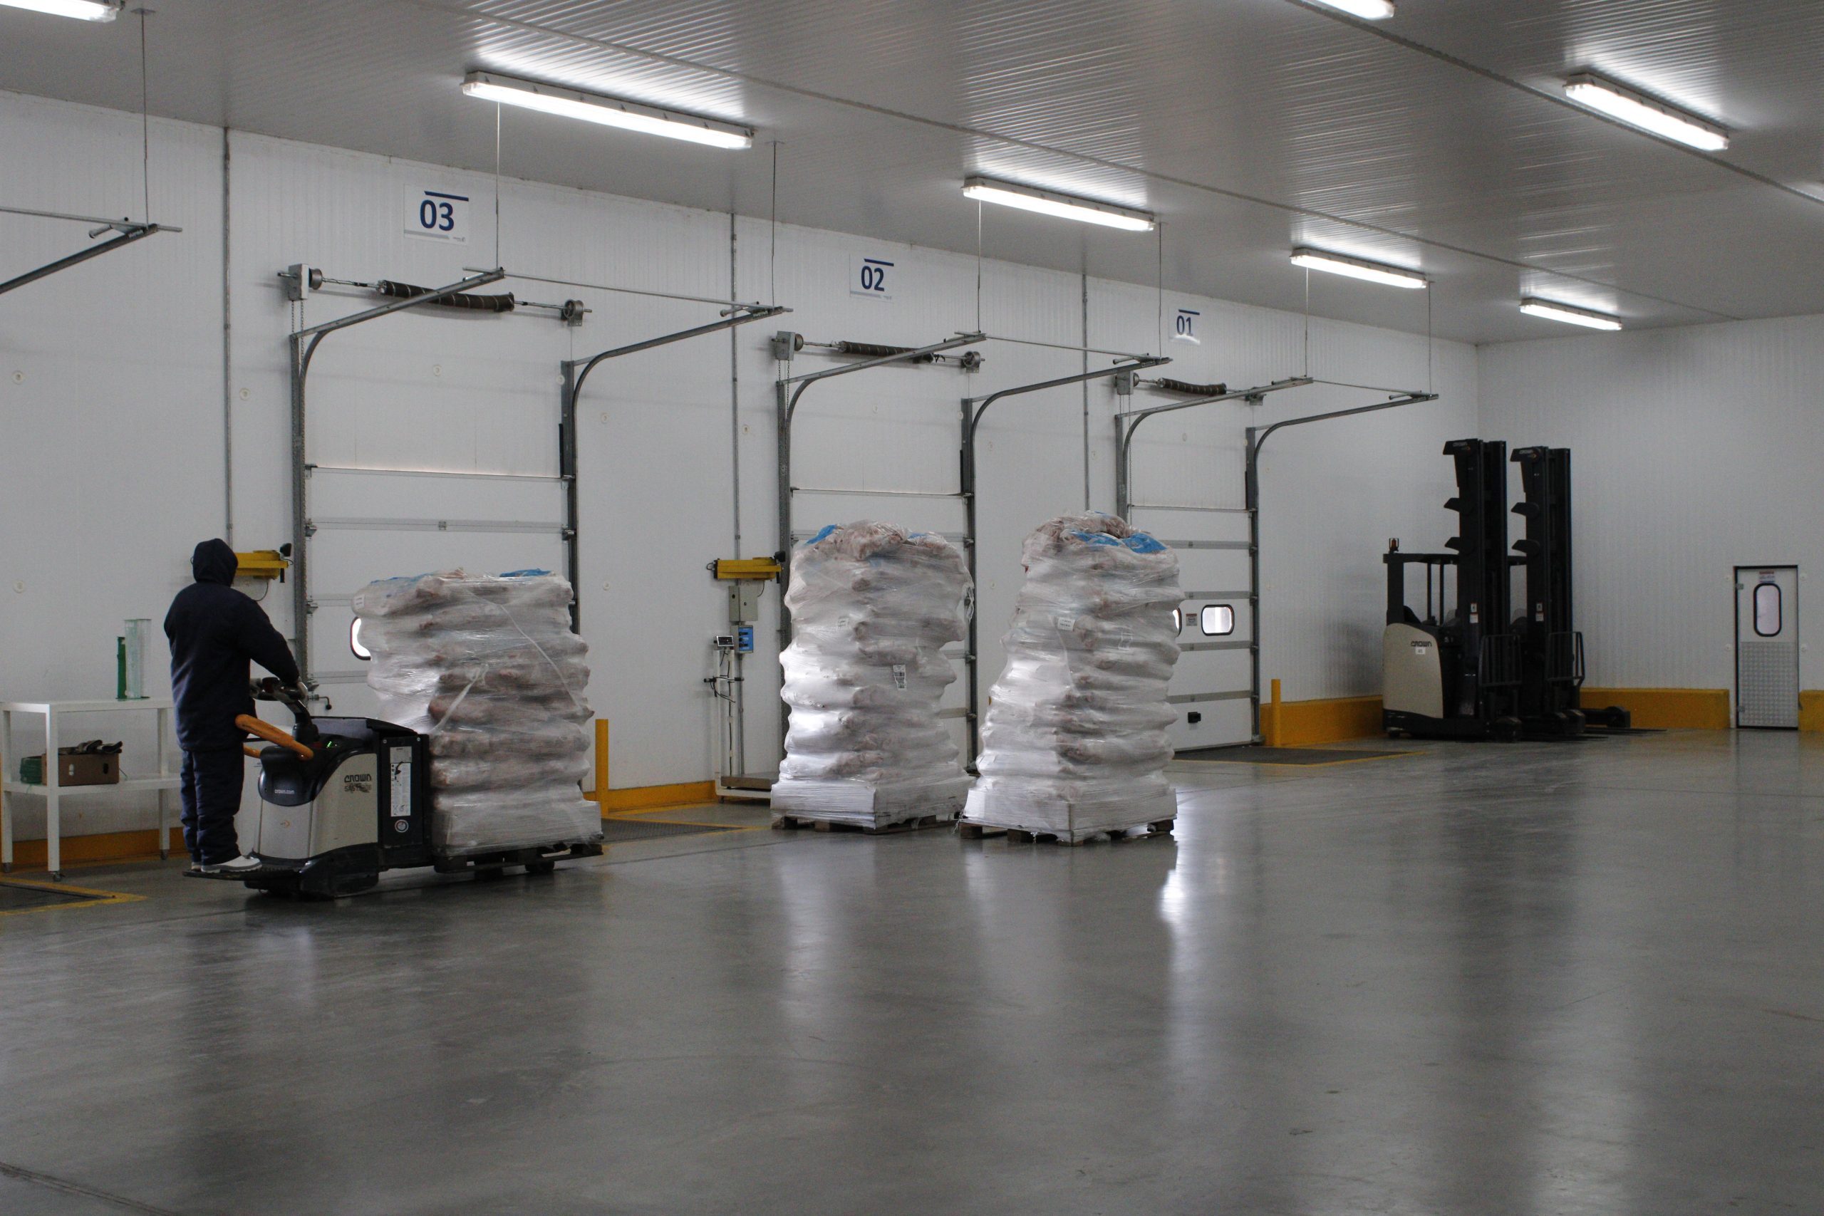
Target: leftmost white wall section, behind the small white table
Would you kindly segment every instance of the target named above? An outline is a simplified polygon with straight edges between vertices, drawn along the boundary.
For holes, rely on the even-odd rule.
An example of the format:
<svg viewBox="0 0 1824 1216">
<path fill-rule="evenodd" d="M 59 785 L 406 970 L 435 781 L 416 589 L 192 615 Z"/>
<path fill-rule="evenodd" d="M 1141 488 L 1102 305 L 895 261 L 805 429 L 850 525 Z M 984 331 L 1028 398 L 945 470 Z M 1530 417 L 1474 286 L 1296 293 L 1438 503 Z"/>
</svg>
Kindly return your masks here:
<svg viewBox="0 0 1824 1216">
<path fill-rule="evenodd" d="M 144 215 L 137 115 L 0 93 L 0 164 L 7 206 Z M 190 549 L 223 529 L 221 131 L 151 124 L 151 206 L 184 232 L 0 295 L 5 700 L 113 696 L 130 616 L 151 618 L 146 687 L 170 695 L 159 625 Z M 86 232 L 0 215 L 0 279 L 84 248 Z M 86 716 L 62 742 L 126 735 L 146 757 L 150 729 L 130 733 L 144 716 Z M 24 804 L 20 835 L 40 824 Z M 66 802 L 71 835 L 119 824 L 151 817 L 119 797 Z"/>
</svg>

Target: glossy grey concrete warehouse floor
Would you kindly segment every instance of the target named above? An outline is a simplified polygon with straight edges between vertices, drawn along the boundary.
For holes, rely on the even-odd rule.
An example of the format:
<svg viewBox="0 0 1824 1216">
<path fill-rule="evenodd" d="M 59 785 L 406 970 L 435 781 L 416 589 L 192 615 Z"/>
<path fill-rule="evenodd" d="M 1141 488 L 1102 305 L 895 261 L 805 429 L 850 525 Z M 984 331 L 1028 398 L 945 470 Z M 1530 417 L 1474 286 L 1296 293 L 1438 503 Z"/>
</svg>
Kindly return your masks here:
<svg viewBox="0 0 1824 1216">
<path fill-rule="evenodd" d="M 1120 846 L 82 871 L 146 899 L 0 919 L 0 1212 L 1824 1211 L 1824 738 L 1417 747 Z"/>
</svg>

